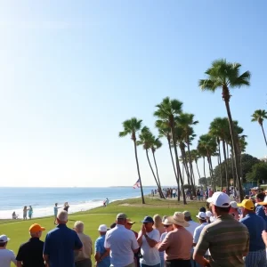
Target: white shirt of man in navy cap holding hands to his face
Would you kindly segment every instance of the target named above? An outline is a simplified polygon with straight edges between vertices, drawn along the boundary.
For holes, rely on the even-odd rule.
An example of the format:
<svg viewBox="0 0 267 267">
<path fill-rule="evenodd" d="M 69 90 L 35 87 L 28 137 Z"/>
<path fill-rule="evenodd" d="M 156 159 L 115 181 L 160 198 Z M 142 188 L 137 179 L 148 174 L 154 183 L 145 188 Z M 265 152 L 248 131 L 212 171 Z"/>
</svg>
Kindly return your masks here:
<svg viewBox="0 0 267 267">
<path fill-rule="evenodd" d="M 139 234 L 141 234 L 141 232 Z M 155 240 L 157 243 L 159 242 L 160 233 L 157 229 L 147 232 L 147 235 L 150 239 Z M 141 254 L 142 258 L 140 259 L 140 263 L 142 264 L 157 265 L 160 263 L 158 248 L 150 247 L 147 239 L 144 236 L 142 236 Z"/>
</svg>

